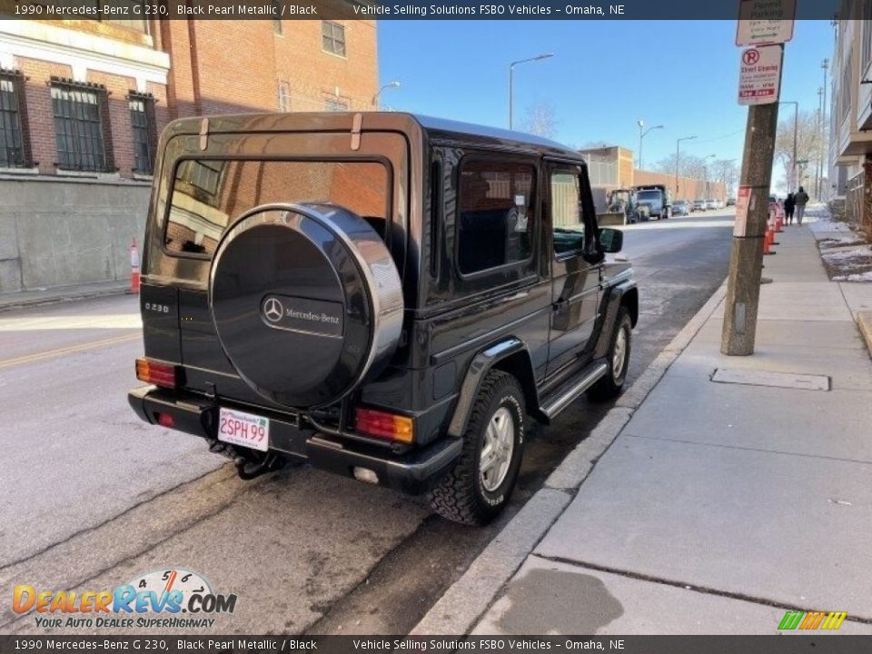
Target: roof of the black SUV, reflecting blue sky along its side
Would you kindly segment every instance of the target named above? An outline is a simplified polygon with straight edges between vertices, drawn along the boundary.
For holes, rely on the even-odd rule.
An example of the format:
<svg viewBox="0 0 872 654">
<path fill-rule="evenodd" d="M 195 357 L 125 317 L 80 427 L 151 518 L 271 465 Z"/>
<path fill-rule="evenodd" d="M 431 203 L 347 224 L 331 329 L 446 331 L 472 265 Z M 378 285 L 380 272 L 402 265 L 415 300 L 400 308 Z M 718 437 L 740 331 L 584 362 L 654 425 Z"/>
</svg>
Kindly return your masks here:
<svg viewBox="0 0 872 654">
<path fill-rule="evenodd" d="M 396 130 L 410 133 L 417 127 L 431 138 L 528 150 L 538 154 L 570 159 L 577 163 L 585 163 L 580 152 L 534 134 L 404 112 L 290 112 L 192 116 L 170 123 L 167 126 L 167 133 L 198 134 L 203 118 L 207 118 L 209 121 L 210 133 L 248 131 L 351 132 L 354 117 L 359 113 L 362 115 L 362 130 L 364 132 Z"/>
</svg>

